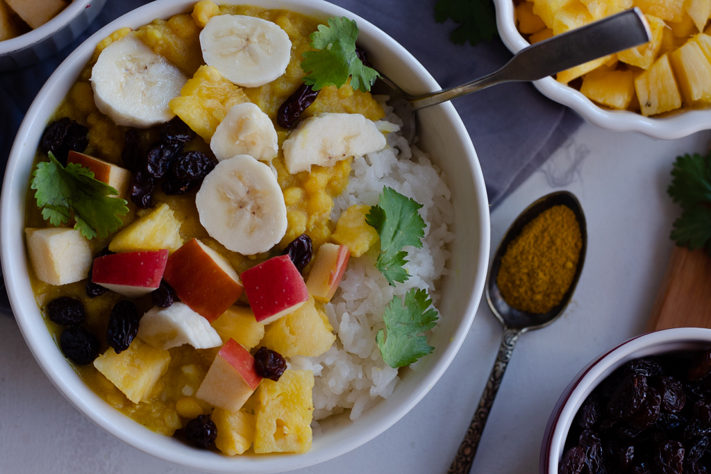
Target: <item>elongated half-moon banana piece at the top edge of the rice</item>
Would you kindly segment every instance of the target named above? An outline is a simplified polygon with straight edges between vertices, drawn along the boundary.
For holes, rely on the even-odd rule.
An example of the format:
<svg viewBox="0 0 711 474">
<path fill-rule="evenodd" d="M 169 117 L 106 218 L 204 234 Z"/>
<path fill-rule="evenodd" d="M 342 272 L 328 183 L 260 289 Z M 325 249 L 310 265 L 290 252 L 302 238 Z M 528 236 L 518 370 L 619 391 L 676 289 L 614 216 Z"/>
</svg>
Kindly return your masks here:
<svg viewBox="0 0 711 474">
<path fill-rule="evenodd" d="M 333 166 L 349 156 L 385 148 L 385 136 L 375 122 L 360 114 L 320 114 L 301 122 L 284 141 L 289 173 L 311 171 L 311 165 Z"/>
</svg>

